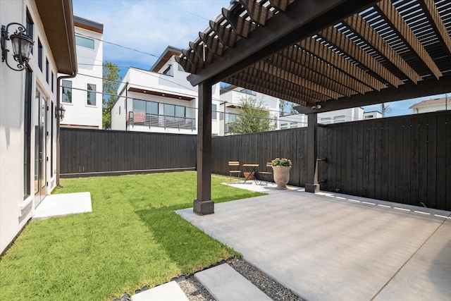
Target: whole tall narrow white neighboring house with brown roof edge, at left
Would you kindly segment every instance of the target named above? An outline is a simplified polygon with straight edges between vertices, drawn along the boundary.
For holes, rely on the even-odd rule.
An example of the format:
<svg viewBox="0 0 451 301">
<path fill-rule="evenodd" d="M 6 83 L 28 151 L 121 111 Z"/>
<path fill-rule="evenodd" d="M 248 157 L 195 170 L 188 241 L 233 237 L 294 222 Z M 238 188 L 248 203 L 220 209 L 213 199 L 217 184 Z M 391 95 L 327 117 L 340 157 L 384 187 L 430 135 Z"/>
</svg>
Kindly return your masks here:
<svg viewBox="0 0 451 301">
<path fill-rule="evenodd" d="M 78 75 L 61 80 L 66 114 L 61 128 L 102 128 L 102 63 L 104 25 L 73 17 Z"/>
</svg>

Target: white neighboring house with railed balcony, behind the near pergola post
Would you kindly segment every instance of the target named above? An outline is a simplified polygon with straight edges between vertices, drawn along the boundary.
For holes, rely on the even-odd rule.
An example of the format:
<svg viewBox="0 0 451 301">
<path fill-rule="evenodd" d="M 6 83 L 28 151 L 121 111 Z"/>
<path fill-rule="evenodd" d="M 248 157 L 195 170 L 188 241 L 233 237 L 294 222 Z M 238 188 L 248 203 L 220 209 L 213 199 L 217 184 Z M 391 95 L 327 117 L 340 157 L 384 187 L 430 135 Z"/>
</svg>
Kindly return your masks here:
<svg viewBox="0 0 451 301">
<path fill-rule="evenodd" d="M 129 68 L 111 110 L 111 130 L 197 135 L 197 87 L 174 57 L 181 50 L 167 47 L 150 70 Z M 219 135 L 219 85 L 212 91 L 212 135 Z"/>
</svg>

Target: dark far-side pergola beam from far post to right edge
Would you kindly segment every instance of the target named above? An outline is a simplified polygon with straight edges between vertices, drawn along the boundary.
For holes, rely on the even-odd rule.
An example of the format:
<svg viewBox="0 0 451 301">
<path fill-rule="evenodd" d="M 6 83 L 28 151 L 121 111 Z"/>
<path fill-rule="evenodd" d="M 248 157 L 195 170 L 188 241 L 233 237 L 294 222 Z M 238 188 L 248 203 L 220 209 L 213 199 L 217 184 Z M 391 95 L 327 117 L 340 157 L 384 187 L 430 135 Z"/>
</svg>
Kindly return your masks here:
<svg viewBox="0 0 451 301">
<path fill-rule="evenodd" d="M 416 97 L 425 97 L 437 94 L 445 94 L 451 92 L 451 75 L 444 76 L 439 80 L 421 80 L 418 84 L 412 82 L 400 85 L 397 88 L 388 88 L 381 90 L 381 92 L 373 91 L 364 95 L 357 94 L 352 97 L 343 97 L 338 100 L 331 100 L 329 102 L 318 102 L 321 109 L 311 109 L 314 103 L 309 103 L 306 106 L 296 106 L 295 109 L 299 113 L 321 113 L 328 111 L 335 111 L 340 109 L 355 108 L 357 106 L 369 106 L 370 104 L 381 104 L 382 102 L 397 102 L 398 100 L 412 99 Z"/>
</svg>

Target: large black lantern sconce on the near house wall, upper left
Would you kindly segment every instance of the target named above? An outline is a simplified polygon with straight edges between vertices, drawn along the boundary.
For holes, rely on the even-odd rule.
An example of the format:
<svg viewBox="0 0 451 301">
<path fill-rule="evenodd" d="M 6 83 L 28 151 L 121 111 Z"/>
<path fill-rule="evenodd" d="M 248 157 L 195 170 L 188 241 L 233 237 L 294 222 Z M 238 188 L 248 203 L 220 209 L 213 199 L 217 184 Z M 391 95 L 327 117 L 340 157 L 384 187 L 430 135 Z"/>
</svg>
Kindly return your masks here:
<svg viewBox="0 0 451 301">
<path fill-rule="evenodd" d="M 8 28 L 11 25 L 17 25 L 17 30 L 12 34 L 8 34 Z M 17 69 L 11 67 L 8 64 L 8 52 L 9 49 L 6 48 L 6 41 L 11 40 L 13 44 L 13 58 L 18 62 Z M 30 53 L 33 47 L 33 40 L 27 35 L 27 30 L 20 23 L 9 23 L 8 25 L 1 25 L 1 61 L 6 62 L 6 65 L 16 71 L 21 71 L 25 69 L 25 63 L 30 60 Z"/>
</svg>

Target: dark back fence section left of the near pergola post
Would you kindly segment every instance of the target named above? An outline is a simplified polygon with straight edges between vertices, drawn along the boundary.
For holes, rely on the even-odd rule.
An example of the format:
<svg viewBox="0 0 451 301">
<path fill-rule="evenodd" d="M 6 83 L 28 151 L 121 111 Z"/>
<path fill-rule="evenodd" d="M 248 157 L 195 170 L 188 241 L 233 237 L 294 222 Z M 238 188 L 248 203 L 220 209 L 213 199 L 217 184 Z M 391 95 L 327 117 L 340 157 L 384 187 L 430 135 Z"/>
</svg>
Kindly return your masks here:
<svg viewBox="0 0 451 301">
<path fill-rule="evenodd" d="M 61 177 L 196 168 L 196 135 L 61 128 Z"/>
</svg>

